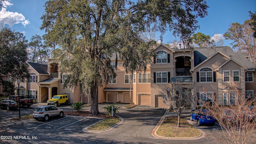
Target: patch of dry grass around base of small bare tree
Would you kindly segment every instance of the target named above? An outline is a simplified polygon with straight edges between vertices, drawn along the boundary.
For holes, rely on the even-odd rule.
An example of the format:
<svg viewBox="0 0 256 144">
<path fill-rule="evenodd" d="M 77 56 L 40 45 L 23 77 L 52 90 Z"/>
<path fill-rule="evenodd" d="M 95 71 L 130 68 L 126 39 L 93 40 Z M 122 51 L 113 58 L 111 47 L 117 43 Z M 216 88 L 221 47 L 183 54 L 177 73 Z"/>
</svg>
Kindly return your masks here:
<svg viewBox="0 0 256 144">
<path fill-rule="evenodd" d="M 178 117 L 165 118 L 156 134 L 165 137 L 195 137 L 201 134 L 184 118 L 180 118 L 180 127 L 177 127 L 177 125 Z"/>
</svg>

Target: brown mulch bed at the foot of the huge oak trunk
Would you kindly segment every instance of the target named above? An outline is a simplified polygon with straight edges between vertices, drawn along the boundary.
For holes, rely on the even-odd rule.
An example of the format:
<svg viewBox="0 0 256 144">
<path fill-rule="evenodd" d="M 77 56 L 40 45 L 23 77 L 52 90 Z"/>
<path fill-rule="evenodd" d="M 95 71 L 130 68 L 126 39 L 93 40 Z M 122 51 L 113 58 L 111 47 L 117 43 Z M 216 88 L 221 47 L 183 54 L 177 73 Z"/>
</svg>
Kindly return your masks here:
<svg viewBox="0 0 256 144">
<path fill-rule="evenodd" d="M 73 111 L 73 112 L 72 112 L 72 111 L 65 111 L 65 112 L 64 112 L 64 115 L 70 115 L 70 116 L 84 116 L 84 117 L 86 117 L 86 116 L 92 116 L 92 114 L 90 114 L 89 111 L 80 111 L 80 112 L 78 112 L 78 111 Z M 106 118 L 110 118 L 111 116 L 108 115 L 108 114 L 99 113 L 98 116 L 93 116 L 93 117 L 106 119 Z M 116 117 L 116 116 L 114 116 L 114 117 Z M 117 117 L 116 117 L 116 118 L 117 118 Z"/>
</svg>

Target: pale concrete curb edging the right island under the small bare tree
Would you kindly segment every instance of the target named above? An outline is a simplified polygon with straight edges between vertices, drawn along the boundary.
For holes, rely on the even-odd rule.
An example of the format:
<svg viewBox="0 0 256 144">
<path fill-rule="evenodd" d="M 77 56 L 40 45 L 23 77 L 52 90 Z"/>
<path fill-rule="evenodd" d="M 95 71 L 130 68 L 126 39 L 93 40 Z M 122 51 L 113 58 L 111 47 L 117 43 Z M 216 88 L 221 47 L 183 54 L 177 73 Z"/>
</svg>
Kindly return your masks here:
<svg viewBox="0 0 256 144">
<path fill-rule="evenodd" d="M 206 136 L 206 134 L 202 130 L 196 128 L 196 125 L 193 124 L 192 122 L 188 121 L 187 118 L 185 118 L 186 121 L 189 124 L 191 124 L 194 128 L 196 128 L 201 133 L 199 136 L 195 136 L 195 137 L 166 137 L 166 136 L 159 136 L 158 134 L 156 134 L 156 132 L 157 132 L 158 128 L 160 127 L 160 125 L 163 123 L 164 118 L 166 118 L 166 114 L 168 112 L 169 112 L 169 109 L 166 110 L 166 112 L 164 113 L 162 118 L 159 120 L 158 124 L 152 130 L 151 135 L 154 136 L 155 138 L 161 138 L 161 139 L 165 139 L 165 140 L 198 140 L 198 139 L 204 138 Z"/>
</svg>

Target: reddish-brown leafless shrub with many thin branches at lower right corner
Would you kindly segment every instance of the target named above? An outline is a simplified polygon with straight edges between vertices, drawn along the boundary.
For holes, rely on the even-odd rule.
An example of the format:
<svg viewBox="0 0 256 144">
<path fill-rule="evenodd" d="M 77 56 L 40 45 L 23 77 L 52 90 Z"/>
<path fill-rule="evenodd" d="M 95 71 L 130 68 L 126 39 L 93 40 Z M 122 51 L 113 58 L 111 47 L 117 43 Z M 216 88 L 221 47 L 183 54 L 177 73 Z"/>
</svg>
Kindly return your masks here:
<svg viewBox="0 0 256 144">
<path fill-rule="evenodd" d="M 252 107 L 255 102 L 252 95 L 244 95 L 242 89 L 231 84 L 222 89 L 226 91 L 229 101 L 227 104 L 220 105 L 218 96 L 207 95 L 207 88 L 202 94 L 210 98 L 211 101 L 203 102 L 204 107 L 209 110 L 207 115 L 213 116 L 222 129 L 222 135 L 216 138 L 220 143 L 225 144 L 255 144 L 256 143 L 256 110 Z M 224 101 L 226 103 L 226 101 Z"/>
</svg>

